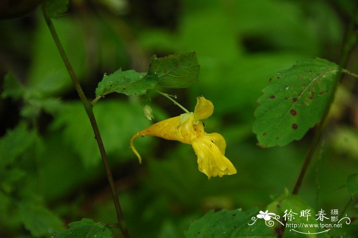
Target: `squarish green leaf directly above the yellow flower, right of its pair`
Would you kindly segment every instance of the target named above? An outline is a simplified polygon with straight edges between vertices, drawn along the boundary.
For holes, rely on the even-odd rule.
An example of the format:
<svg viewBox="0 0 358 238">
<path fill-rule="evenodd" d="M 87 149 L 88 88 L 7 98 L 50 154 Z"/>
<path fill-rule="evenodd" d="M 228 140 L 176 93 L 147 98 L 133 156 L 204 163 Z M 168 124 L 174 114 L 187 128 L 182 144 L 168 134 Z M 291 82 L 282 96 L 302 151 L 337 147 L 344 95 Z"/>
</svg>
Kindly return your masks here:
<svg viewBox="0 0 358 238">
<path fill-rule="evenodd" d="M 199 81 L 196 53 L 169 55 L 163 58 L 151 58 L 149 71 L 158 75 L 158 85 L 165 88 L 188 88 Z"/>
</svg>

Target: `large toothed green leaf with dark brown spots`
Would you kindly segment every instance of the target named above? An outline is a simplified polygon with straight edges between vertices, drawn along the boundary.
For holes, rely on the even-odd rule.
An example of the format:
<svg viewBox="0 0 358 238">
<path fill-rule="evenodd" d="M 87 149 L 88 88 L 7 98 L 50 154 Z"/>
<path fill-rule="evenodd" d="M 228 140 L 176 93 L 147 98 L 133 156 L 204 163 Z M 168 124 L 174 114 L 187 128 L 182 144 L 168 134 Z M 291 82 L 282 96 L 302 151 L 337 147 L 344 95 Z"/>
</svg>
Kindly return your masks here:
<svg viewBox="0 0 358 238">
<path fill-rule="evenodd" d="M 278 72 L 258 99 L 253 132 L 259 145 L 300 140 L 323 116 L 335 92 L 340 67 L 325 59 L 303 59 Z"/>
</svg>

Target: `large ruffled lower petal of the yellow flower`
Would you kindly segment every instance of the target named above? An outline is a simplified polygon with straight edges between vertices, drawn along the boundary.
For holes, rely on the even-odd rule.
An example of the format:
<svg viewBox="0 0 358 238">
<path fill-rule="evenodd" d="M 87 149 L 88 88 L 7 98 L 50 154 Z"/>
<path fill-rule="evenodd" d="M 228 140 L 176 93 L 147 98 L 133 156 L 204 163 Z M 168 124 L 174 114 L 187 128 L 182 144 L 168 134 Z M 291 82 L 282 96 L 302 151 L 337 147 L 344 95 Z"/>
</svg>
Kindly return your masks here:
<svg viewBox="0 0 358 238">
<path fill-rule="evenodd" d="M 206 174 L 209 179 L 216 176 L 236 174 L 234 165 L 220 152 L 220 149 L 210 138 L 204 135 L 192 141 L 199 170 Z"/>
</svg>

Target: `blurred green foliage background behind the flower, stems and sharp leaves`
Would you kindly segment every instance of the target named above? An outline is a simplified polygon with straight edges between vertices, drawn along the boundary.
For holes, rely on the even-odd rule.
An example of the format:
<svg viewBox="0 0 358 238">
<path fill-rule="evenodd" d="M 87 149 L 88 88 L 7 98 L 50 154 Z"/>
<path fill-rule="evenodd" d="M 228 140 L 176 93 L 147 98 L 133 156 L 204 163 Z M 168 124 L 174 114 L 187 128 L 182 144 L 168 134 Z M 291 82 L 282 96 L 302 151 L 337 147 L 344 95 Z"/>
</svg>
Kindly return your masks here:
<svg viewBox="0 0 358 238">
<path fill-rule="evenodd" d="M 147 72 L 153 54 L 196 51 L 199 82 L 165 92 L 190 111 L 196 96 L 213 102 L 206 131 L 225 137 L 237 174 L 208 180 L 190 145 L 159 138 L 136 141 L 140 165 L 128 143 L 151 123 L 141 112 L 146 97 L 106 95 L 94 112 L 132 237 L 184 237 L 192 220 L 211 209 L 265 210 L 285 188 L 292 190 L 312 132 L 284 147 L 260 148 L 252 132 L 256 101 L 269 78 L 298 59 L 339 61 L 344 16 L 353 2 L 77 0 L 53 20 L 92 99 L 104 73 Z M 49 237 L 82 218 L 114 223 L 91 125 L 41 12 L 1 20 L 0 32 L 1 92 L 4 85 L 11 89 L 0 99 L 2 237 Z M 350 61 L 348 70 L 358 72 L 356 51 Z M 358 165 L 356 91 L 354 80 L 345 78 L 300 191 L 315 210 L 343 210 L 356 194 L 356 176 L 346 188 Z M 160 95 L 150 96 L 155 120 L 182 113 Z M 356 213 L 353 205 L 349 215 Z M 349 229 L 358 231 L 354 223 Z"/>
</svg>

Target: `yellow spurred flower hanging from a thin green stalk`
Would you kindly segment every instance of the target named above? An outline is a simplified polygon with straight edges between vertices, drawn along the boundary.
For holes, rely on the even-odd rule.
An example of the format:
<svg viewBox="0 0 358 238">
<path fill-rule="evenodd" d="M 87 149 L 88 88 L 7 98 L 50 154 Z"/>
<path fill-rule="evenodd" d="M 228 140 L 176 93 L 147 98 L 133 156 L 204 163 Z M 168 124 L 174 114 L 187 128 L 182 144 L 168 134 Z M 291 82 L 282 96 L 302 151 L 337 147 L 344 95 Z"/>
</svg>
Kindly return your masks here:
<svg viewBox="0 0 358 238">
<path fill-rule="evenodd" d="M 204 123 L 200 121 L 213 114 L 213 104 L 204 97 L 196 99 L 194 113 L 184 113 L 160 121 L 132 136 L 130 147 L 137 155 L 139 163 L 142 162 L 142 159 L 133 146 L 133 141 L 139 136 L 157 136 L 191 144 L 197 155 L 199 170 L 204 172 L 209 179 L 236 174 L 234 165 L 225 157 L 225 139 L 218 133 L 207 134 L 204 132 Z"/>
</svg>

